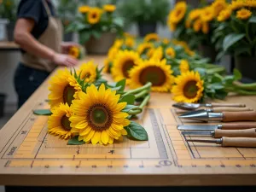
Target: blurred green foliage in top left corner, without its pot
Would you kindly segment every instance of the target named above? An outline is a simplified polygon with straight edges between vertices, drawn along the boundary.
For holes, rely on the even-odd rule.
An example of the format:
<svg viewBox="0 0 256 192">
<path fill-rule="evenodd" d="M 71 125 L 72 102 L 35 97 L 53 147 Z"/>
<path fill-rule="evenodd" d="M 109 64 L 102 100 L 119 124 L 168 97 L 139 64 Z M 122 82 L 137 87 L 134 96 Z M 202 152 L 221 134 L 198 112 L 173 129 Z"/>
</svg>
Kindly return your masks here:
<svg viewBox="0 0 256 192">
<path fill-rule="evenodd" d="M 15 21 L 17 4 L 17 0 L 2 0 L 0 2 L 0 17 L 9 21 Z"/>
</svg>

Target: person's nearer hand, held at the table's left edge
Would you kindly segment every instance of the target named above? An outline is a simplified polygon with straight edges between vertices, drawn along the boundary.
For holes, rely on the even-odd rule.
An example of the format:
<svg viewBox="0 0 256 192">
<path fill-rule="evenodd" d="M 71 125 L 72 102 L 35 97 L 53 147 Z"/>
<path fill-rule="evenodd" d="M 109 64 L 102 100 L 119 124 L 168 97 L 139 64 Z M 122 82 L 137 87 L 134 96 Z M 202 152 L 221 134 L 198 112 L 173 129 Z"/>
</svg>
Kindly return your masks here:
<svg viewBox="0 0 256 192">
<path fill-rule="evenodd" d="M 57 53 L 53 56 L 53 62 L 56 65 L 67 67 L 74 67 L 79 64 L 79 61 L 72 56 Z"/>
</svg>

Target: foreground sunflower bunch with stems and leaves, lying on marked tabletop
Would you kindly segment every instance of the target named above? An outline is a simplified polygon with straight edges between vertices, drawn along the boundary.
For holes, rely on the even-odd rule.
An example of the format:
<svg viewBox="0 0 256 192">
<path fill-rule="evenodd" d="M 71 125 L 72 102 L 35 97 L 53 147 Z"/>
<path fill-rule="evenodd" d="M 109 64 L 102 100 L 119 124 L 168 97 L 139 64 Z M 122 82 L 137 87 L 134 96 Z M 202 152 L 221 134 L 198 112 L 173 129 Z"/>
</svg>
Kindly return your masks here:
<svg viewBox="0 0 256 192">
<path fill-rule="evenodd" d="M 125 91 L 125 80 L 108 84 L 93 61 L 78 71 L 59 70 L 49 82 L 49 133 L 70 144 L 111 144 L 123 136 L 140 141 L 148 134 L 131 117 L 142 113 L 151 84 Z"/>
</svg>

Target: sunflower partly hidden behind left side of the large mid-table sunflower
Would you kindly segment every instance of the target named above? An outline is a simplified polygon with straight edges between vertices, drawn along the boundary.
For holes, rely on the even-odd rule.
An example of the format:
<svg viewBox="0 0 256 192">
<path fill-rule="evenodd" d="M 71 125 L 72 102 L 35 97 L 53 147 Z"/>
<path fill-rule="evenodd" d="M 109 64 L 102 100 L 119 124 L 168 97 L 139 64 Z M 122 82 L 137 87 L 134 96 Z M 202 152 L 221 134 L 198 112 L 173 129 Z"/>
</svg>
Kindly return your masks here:
<svg viewBox="0 0 256 192">
<path fill-rule="evenodd" d="M 133 50 L 119 50 L 113 61 L 111 73 L 115 81 L 129 79 L 129 71 L 140 61 L 140 56 Z"/>
</svg>

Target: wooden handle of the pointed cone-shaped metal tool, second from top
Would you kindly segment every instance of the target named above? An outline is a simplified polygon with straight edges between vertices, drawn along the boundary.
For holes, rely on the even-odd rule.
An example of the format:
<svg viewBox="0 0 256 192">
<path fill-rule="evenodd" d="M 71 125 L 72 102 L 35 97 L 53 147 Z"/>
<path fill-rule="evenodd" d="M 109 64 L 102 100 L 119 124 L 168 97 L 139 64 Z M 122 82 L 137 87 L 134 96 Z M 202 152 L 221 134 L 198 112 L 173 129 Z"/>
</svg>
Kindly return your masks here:
<svg viewBox="0 0 256 192">
<path fill-rule="evenodd" d="M 223 112 L 223 121 L 243 121 L 243 120 L 253 120 L 256 121 L 255 111 L 244 111 L 244 112 Z"/>
</svg>

